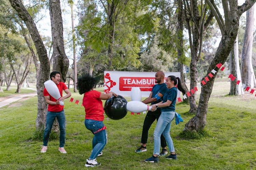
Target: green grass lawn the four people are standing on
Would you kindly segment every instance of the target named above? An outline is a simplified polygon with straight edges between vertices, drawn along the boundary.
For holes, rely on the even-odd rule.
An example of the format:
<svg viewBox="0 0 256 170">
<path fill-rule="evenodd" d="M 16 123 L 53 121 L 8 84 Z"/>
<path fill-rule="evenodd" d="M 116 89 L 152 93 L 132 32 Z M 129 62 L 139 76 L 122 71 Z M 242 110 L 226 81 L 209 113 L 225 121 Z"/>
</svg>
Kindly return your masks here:
<svg viewBox="0 0 256 170">
<path fill-rule="evenodd" d="M 189 105 L 177 103 L 176 112 L 184 120 L 179 125 L 173 122 L 170 130 L 177 160 L 160 157 L 158 164 L 144 162 L 153 153 L 156 123 L 148 134 L 147 151 L 134 152 L 140 146 L 145 114 L 128 112 L 121 120 L 105 116 L 108 143 L 103 155 L 97 158 L 101 163 L 97 169 L 256 169 L 255 94 L 227 96 L 229 87 L 226 81 L 214 83 L 207 124 L 197 134 L 182 135 L 185 123 L 193 115 L 188 114 Z M 41 154 L 43 142 L 32 140 L 37 117 L 36 97 L 22 101 L 23 106 L 0 108 L 0 169 L 87 169 L 84 164 L 91 153 L 93 134 L 84 126 L 83 96 L 72 93 L 72 97 L 80 103 L 65 100 L 67 154 L 58 152 L 58 140 L 50 140 L 47 152 Z"/>
</svg>

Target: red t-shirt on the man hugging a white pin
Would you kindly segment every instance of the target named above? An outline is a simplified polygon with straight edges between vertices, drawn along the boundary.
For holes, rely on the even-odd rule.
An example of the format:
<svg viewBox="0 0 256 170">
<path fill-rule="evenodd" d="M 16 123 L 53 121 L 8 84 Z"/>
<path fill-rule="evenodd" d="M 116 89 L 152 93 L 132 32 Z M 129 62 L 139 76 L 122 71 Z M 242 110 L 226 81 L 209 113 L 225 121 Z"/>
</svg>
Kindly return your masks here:
<svg viewBox="0 0 256 170">
<path fill-rule="evenodd" d="M 57 87 L 59 89 L 60 92 L 60 96 L 62 97 L 62 90 L 66 90 L 68 87 L 66 86 L 65 83 L 63 82 L 59 82 L 59 84 L 57 84 Z M 48 91 L 46 90 L 46 88 L 44 88 L 44 96 L 50 96 L 50 100 L 53 102 L 56 102 L 57 100 L 54 99 L 51 95 L 49 95 Z M 57 105 L 52 105 L 52 104 L 48 104 L 48 111 L 49 112 L 60 112 L 63 110 L 64 106 L 61 106 L 59 104 Z"/>
</svg>

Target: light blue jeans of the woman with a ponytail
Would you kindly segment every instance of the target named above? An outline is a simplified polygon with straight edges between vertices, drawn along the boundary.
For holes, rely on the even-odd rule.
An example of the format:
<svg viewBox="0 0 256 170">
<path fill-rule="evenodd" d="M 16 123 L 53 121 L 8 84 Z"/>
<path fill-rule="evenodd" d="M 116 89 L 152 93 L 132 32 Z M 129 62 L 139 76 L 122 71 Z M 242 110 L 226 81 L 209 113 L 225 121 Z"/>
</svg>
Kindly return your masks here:
<svg viewBox="0 0 256 170">
<path fill-rule="evenodd" d="M 167 142 L 170 152 L 174 152 L 172 138 L 170 136 L 171 122 L 175 117 L 175 112 L 162 112 L 154 131 L 154 152 L 153 154 L 160 154 L 160 136 L 163 134 Z"/>
</svg>

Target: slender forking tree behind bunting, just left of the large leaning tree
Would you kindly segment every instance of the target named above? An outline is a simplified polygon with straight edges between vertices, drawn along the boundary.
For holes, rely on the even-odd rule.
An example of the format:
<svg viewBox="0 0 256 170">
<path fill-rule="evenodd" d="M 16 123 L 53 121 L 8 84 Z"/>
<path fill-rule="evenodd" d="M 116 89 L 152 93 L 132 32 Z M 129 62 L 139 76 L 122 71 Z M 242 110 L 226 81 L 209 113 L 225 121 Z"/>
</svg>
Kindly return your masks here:
<svg viewBox="0 0 256 170">
<path fill-rule="evenodd" d="M 203 1 L 200 1 L 201 4 L 197 4 L 197 0 L 187 1 L 184 0 L 185 6 L 185 19 L 186 19 L 186 28 L 188 30 L 189 36 L 189 45 L 191 53 L 191 62 L 190 62 L 190 90 L 197 86 L 197 62 L 200 59 L 203 35 L 205 29 L 209 26 L 213 14 L 209 12 L 207 3 L 203 4 Z M 190 109 L 189 113 L 196 113 L 196 93 L 192 94 L 189 97 Z"/>
</svg>

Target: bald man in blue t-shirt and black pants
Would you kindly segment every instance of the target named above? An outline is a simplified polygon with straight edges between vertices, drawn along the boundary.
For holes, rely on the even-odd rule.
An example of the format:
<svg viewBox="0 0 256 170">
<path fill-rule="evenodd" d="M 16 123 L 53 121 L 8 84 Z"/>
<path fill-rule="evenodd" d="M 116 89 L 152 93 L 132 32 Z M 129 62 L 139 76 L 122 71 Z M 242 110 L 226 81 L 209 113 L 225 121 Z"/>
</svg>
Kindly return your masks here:
<svg viewBox="0 0 256 170">
<path fill-rule="evenodd" d="M 155 74 L 155 84 L 151 90 L 150 96 L 143 100 L 142 102 L 145 104 L 151 103 L 156 104 L 162 101 L 163 95 L 167 92 L 167 87 L 164 82 L 165 73 L 162 71 L 158 71 Z M 141 136 L 141 143 L 142 145 L 138 147 L 138 149 L 135 151 L 137 153 L 139 152 L 145 152 L 147 151 L 146 145 L 147 145 L 147 136 L 148 136 L 148 130 L 150 129 L 150 126 L 155 120 L 158 120 L 159 116 L 161 115 L 160 109 L 156 109 L 155 112 L 148 111 L 147 115 L 145 117 L 144 123 L 143 123 L 143 129 L 142 129 L 142 136 Z M 160 156 L 165 156 L 168 152 L 166 149 L 167 143 L 163 135 L 161 135 L 161 147 L 162 152 L 160 153 Z"/>
</svg>

